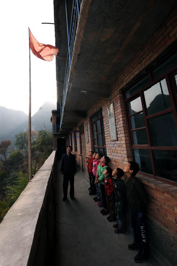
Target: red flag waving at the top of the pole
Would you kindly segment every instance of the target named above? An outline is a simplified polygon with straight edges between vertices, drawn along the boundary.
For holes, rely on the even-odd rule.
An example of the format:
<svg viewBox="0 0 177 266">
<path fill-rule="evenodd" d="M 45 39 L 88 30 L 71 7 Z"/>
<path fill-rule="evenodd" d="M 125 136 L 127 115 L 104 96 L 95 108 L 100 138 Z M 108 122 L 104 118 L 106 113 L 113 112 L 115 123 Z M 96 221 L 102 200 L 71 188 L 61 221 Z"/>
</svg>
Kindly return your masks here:
<svg viewBox="0 0 177 266">
<path fill-rule="evenodd" d="M 31 31 L 29 38 L 29 46 L 35 56 L 45 61 L 52 61 L 53 56 L 56 56 L 58 53 L 58 48 L 56 48 L 55 46 L 52 46 L 50 44 L 38 43 L 38 41 L 32 35 Z"/>
</svg>

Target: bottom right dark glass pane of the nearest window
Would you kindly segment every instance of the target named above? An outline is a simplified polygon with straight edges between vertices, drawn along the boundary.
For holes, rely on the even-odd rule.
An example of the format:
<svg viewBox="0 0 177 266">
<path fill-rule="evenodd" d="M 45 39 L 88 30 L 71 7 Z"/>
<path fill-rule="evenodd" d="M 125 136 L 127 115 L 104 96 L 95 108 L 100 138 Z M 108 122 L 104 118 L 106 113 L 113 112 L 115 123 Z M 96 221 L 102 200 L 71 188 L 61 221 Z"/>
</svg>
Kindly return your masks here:
<svg viewBox="0 0 177 266">
<path fill-rule="evenodd" d="M 153 150 L 156 175 L 177 182 L 177 150 Z"/>
</svg>

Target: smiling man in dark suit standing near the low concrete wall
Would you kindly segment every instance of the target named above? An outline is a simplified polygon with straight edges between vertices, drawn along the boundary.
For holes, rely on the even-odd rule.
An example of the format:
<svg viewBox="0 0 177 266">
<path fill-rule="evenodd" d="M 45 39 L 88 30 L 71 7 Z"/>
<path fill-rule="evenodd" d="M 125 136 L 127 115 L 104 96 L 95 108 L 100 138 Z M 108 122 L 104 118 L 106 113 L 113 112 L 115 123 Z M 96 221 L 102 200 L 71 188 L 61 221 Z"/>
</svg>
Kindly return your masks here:
<svg viewBox="0 0 177 266">
<path fill-rule="evenodd" d="M 76 157 L 71 146 L 67 147 L 61 159 L 60 172 L 63 175 L 63 201 L 67 200 L 68 184 L 70 183 L 70 198 L 74 200 L 74 176 L 76 175 Z"/>
</svg>

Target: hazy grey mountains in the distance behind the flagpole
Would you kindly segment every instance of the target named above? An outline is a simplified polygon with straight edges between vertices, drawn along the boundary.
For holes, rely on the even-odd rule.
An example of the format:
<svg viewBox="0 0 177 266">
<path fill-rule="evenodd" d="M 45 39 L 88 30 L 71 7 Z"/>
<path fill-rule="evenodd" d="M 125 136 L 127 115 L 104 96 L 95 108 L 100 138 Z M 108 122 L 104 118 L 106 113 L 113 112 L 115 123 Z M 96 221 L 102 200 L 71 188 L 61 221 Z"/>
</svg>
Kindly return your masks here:
<svg viewBox="0 0 177 266">
<path fill-rule="evenodd" d="M 4 110 L 3 112 L 1 112 L 1 108 Z M 45 102 L 32 116 L 31 128 L 38 132 L 43 129 L 43 123 L 45 123 L 46 129 L 51 130 L 52 123 L 50 122 L 50 117 L 52 116 L 51 111 L 53 109 L 56 109 L 55 103 Z M 24 115 L 24 118 L 22 114 Z M 27 114 L 22 111 L 0 107 L 0 141 L 9 139 L 13 142 L 15 134 L 26 130 L 28 130 Z"/>
</svg>

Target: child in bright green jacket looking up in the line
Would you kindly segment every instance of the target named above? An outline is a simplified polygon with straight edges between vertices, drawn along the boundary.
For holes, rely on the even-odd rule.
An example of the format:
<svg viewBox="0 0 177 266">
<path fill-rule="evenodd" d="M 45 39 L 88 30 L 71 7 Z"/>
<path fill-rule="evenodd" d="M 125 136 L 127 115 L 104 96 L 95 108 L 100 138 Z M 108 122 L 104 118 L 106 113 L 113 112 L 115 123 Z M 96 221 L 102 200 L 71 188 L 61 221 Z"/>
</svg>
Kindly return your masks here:
<svg viewBox="0 0 177 266">
<path fill-rule="evenodd" d="M 104 173 L 103 173 L 103 171 L 108 167 L 108 163 L 109 163 L 109 158 L 107 156 L 103 156 L 101 158 L 101 162 L 98 165 L 97 172 L 96 172 L 96 179 L 95 179 L 95 183 L 98 184 L 99 182 L 100 188 L 101 188 L 101 195 L 102 195 L 103 207 L 104 207 L 104 209 L 100 211 L 102 215 L 106 215 L 109 213 L 109 206 L 108 206 L 108 201 L 106 198 L 106 190 L 104 186 Z"/>
</svg>

